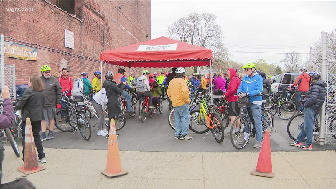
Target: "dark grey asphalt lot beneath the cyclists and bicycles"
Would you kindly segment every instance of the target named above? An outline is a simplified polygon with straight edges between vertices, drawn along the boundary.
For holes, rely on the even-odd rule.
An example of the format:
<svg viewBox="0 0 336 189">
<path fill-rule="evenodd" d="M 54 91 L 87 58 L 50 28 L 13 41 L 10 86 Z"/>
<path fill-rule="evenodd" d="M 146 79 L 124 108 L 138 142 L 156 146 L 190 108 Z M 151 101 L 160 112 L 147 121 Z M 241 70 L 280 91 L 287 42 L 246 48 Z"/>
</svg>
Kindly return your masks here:
<svg viewBox="0 0 336 189">
<path fill-rule="evenodd" d="M 191 141 L 181 141 L 174 138 L 174 130 L 168 123 L 168 102 L 163 102 L 162 114 L 157 111 L 150 118 L 147 116 L 143 123 L 138 121 L 138 110 L 135 117 L 126 116 L 126 125 L 117 131 L 119 149 L 121 151 L 159 151 L 159 152 L 258 152 L 259 149 L 253 148 L 256 140 L 250 138 L 250 143 L 241 150 L 237 150 L 231 144 L 230 138 L 224 138 L 222 143 L 217 143 L 210 132 L 205 139 L 205 134 L 197 134 L 189 129 L 188 135 L 194 139 Z M 91 120 L 92 125 L 96 118 Z M 300 148 L 290 146 L 292 139 L 287 134 L 288 121 L 281 120 L 278 115 L 274 116 L 274 129 L 270 137 L 272 151 L 302 151 Z M 65 149 L 89 149 L 106 150 L 108 139 L 97 136 L 97 126 L 92 128 L 92 137 L 89 141 L 82 138 L 79 131 L 73 133 L 64 133 L 55 127 L 54 139 L 43 141 L 43 146 L 47 148 L 65 148 Z M 225 133 L 229 131 L 225 129 Z M 314 150 L 336 149 L 336 145 L 319 146 L 313 141 Z"/>
</svg>

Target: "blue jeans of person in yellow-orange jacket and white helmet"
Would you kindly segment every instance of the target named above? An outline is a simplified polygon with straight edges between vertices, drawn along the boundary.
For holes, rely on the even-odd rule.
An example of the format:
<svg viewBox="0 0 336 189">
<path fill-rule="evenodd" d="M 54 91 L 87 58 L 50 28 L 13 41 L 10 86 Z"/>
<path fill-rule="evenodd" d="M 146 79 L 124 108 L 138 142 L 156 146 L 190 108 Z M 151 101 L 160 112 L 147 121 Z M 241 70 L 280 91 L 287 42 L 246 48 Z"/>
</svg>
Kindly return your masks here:
<svg viewBox="0 0 336 189">
<path fill-rule="evenodd" d="M 175 136 L 187 135 L 190 124 L 188 104 L 184 104 L 179 107 L 174 107 L 174 112 L 175 112 Z"/>
</svg>

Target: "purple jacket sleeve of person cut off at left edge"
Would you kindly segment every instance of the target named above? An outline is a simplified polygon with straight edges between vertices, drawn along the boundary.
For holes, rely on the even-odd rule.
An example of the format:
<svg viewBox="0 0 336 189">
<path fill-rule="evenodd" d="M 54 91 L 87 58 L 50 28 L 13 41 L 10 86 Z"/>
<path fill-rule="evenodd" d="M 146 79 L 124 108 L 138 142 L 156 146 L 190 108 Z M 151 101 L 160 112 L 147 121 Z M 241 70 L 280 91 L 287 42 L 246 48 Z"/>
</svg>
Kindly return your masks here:
<svg viewBox="0 0 336 189">
<path fill-rule="evenodd" d="M 12 126 L 13 121 L 14 121 L 14 109 L 12 101 L 10 100 L 10 98 L 5 98 L 3 100 L 3 112 L 2 114 L 0 114 L 0 129 Z"/>
</svg>

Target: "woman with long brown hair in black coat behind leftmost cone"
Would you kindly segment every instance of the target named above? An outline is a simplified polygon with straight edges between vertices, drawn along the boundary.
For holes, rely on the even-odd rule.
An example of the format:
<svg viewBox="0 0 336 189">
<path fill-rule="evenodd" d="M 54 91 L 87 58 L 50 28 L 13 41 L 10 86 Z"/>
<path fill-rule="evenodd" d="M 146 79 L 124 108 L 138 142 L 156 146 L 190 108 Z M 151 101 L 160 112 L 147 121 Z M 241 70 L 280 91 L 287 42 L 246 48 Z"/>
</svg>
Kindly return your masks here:
<svg viewBox="0 0 336 189">
<path fill-rule="evenodd" d="M 40 77 L 32 75 L 28 79 L 28 86 L 15 108 L 22 110 L 22 160 L 25 160 L 26 118 L 30 118 L 33 137 L 38 152 L 38 161 L 46 163 L 40 136 L 41 120 L 44 120 L 44 84 Z"/>
</svg>

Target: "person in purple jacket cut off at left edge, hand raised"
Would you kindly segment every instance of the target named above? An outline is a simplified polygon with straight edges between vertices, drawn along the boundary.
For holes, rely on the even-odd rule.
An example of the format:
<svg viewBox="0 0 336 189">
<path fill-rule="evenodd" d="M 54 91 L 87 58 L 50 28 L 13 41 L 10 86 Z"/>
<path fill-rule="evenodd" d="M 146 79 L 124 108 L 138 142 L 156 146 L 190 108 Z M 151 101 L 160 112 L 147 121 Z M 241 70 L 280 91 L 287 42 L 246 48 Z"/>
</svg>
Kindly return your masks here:
<svg viewBox="0 0 336 189">
<path fill-rule="evenodd" d="M 4 129 L 10 127 L 14 121 L 14 109 L 12 105 L 12 101 L 10 99 L 9 88 L 5 86 L 0 90 L 0 94 L 3 98 L 3 113 L 0 114 L 0 129 Z M 2 144 L 0 143 L 0 184 L 2 178 L 2 160 L 3 160 L 3 148 Z"/>
</svg>

